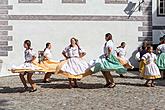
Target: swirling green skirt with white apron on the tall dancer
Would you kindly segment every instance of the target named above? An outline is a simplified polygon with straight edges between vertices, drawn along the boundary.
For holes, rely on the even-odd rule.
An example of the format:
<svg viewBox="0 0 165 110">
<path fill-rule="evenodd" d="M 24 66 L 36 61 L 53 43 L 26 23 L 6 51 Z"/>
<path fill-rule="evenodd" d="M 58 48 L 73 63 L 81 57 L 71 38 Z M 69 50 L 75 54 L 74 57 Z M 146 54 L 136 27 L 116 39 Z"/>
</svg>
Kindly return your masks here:
<svg viewBox="0 0 165 110">
<path fill-rule="evenodd" d="M 124 68 L 119 60 L 112 54 L 108 58 L 100 57 L 96 60 L 94 67 L 91 68 L 93 73 L 99 71 L 116 71 L 118 74 L 127 73 L 127 69 Z"/>
</svg>

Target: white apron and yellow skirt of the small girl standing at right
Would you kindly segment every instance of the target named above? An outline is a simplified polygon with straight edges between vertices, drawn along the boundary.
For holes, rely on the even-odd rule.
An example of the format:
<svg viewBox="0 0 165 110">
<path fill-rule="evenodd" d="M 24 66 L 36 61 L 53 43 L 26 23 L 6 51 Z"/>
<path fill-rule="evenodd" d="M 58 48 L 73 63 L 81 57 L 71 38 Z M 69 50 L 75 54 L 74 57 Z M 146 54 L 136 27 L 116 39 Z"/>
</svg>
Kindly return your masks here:
<svg viewBox="0 0 165 110">
<path fill-rule="evenodd" d="M 145 65 L 145 72 L 143 77 L 145 79 L 157 79 L 160 78 L 160 71 L 154 62 Z"/>
</svg>

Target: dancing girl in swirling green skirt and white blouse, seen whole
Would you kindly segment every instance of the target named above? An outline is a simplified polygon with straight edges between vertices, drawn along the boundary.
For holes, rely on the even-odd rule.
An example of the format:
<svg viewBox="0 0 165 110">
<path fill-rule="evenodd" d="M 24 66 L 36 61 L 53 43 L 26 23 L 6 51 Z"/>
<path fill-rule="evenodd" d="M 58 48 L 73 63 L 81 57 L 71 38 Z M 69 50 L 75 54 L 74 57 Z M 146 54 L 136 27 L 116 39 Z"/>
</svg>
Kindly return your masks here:
<svg viewBox="0 0 165 110">
<path fill-rule="evenodd" d="M 112 35 L 107 33 L 105 35 L 104 54 L 99 59 L 95 60 L 94 67 L 91 68 L 93 73 L 101 71 L 106 80 L 104 87 L 113 88 L 115 82 L 110 71 L 116 71 L 119 74 L 126 73 L 127 70 L 120 64 L 115 57 L 114 43 L 112 41 Z"/>
</svg>

